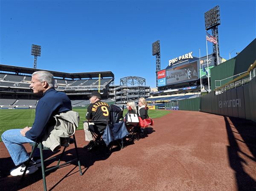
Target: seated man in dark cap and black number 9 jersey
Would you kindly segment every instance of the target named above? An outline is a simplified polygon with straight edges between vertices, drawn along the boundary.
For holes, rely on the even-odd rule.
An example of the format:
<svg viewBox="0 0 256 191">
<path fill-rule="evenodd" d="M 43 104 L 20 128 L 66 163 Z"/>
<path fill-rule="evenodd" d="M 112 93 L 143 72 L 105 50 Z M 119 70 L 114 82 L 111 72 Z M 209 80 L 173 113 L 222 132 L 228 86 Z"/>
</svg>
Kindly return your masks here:
<svg viewBox="0 0 256 191">
<path fill-rule="evenodd" d="M 87 108 L 86 119 L 87 121 L 106 120 L 102 123 L 84 123 L 85 140 L 89 141 L 88 145 L 84 148 L 90 150 L 93 145 L 93 135 L 90 131 L 99 133 L 104 130 L 108 125 L 109 106 L 108 103 L 101 101 L 101 95 L 98 91 L 93 91 L 90 95 L 90 105 Z"/>
</svg>

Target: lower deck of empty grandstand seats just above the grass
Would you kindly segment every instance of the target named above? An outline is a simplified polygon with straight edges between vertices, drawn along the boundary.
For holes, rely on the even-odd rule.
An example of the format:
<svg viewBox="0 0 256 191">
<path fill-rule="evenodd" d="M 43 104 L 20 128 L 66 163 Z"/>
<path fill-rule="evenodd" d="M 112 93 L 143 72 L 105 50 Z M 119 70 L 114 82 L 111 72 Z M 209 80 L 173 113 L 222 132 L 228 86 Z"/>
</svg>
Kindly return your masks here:
<svg viewBox="0 0 256 191">
<path fill-rule="evenodd" d="M 102 100 L 103 102 L 112 102 L 112 99 Z M 17 100 L 0 99 L 1 109 L 35 109 L 38 100 Z M 90 104 L 90 100 L 71 100 L 72 106 L 85 106 Z"/>
</svg>

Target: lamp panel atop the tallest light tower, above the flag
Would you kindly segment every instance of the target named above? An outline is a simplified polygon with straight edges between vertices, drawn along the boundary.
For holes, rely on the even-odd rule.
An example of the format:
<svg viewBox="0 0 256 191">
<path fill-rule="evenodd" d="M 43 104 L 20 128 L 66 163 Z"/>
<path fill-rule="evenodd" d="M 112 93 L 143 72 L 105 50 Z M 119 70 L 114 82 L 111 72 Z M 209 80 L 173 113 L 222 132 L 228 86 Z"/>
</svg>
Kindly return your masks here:
<svg viewBox="0 0 256 191">
<path fill-rule="evenodd" d="M 207 31 L 221 24 L 219 6 L 215 6 L 214 8 L 204 13 L 204 23 L 205 23 L 205 30 Z"/>
</svg>

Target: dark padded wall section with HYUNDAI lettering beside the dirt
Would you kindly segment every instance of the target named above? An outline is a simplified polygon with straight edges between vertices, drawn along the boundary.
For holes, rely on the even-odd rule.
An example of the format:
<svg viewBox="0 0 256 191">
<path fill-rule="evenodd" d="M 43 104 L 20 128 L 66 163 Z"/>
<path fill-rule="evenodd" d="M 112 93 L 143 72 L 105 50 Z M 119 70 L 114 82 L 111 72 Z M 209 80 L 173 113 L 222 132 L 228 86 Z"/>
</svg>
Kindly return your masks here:
<svg viewBox="0 0 256 191">
<path fill-rule="evenodd" d="M 201 97 L 200 111 L 239 117 L 256 122 L 256 77 L 250 83 L 215 95 L 215 91 Z"/>
</svg>

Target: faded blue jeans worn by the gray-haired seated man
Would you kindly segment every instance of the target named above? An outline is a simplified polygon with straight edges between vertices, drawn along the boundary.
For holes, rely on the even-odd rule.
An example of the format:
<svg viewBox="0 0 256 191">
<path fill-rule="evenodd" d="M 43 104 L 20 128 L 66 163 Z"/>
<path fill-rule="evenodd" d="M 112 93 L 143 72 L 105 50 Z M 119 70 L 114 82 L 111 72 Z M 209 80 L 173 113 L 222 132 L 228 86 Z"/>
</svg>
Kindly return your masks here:
<svg viewBox="0 0 256 191">
<path fill-rule="evenodd" d="M 20 134 L 20 130 L 21 129 L 10 129 L 2 134 L 3 143 L 6 145 L 6 148 L 16 166 L 29 159 L 29 154 L 23 146 L 23 143 L 35 143 L 34 141 L 22 136 Z M 34 156 L 38 156 L 38 151 L 39 149 L 35 149 Z"/>
</svg>

